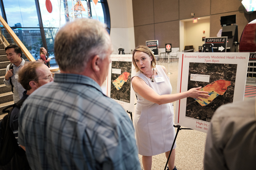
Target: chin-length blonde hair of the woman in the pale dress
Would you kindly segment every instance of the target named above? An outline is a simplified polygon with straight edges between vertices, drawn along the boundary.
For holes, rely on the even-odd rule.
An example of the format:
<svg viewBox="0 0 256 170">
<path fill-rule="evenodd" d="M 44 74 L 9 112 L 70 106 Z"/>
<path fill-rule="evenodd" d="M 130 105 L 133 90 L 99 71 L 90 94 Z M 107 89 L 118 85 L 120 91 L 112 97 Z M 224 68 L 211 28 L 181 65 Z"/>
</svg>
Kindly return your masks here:
<svg viewBox="0 0 256 170">
<path fill-rule="evenodd" d="M 151 61 L 151 67 L 155 68 L 156 61 L 155 61 L 155 55 L 153 54 L 153 51 L 149 47 L 146 47 L 144 45 L 139 45 L 133 50 L 133 65 L 135 66 L 135 71 L 139 72 L 139 67 L 136 65 L 135 59 L 134 59 L 134 54 L 136 51 L 141 51 L 149 55 L 149 57 L 152 56 L 152 61 Z"/>
</svg>

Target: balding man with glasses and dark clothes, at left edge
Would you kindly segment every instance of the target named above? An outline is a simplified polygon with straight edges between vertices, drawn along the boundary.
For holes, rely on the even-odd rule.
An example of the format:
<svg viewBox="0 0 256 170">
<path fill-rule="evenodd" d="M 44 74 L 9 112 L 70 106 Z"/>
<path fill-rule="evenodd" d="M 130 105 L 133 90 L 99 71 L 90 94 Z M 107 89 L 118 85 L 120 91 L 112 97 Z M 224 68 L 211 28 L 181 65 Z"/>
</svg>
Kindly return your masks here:
<svg viewBox="0 0 256 170">
<path fill-rule="evenodd" d="M 30 166 L 27 162 L 27 158 L 23 149 L 19 148 L 18 143 L 18 112 L 21 108 L 21 105 L 26 100 L 26 98 L 32 94 L 36 89 L 53 81 L 52 74 L 49 68 L 41 62 L 29 62 L 25 63 L 25 65 L 18 72 L 18 82 L 21 83 L 25 91 L 23 92 L 23 96 L 20 101 L 14 104 L 11 113 L 6 115 L 1 123 L 6 124 L 6 121 L 9 120 L 10 127 L 5 133 L 13 133 L 9 134 L 8 137 L 2 139 L 1 145 L 1 164 L 2 161 L 8 162 L 5 166 L 0 166 L 1 170 L 30 170 Z M 9 119 L 8 119 L 9 116 Z M 16 148 L 16 152 L 10 148 Z M 13 152 L 11 152 L 13 151 Z M 13 157 L 11 155 L 14 154 Z M 7 160 L 8 159 L 8 160 Z"/>
</svg>

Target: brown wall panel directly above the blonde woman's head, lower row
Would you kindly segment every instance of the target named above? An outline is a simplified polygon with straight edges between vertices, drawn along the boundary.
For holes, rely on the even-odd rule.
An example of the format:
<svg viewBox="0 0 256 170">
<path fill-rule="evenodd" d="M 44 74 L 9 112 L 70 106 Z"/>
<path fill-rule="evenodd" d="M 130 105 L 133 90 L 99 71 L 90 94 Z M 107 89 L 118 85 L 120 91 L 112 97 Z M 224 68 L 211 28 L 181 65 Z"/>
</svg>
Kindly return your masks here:
<svg viewBox="0 0 256 170">
<path fill-rule="evenodd" d="M 143 25 L 134 27 L 135 47 L 146 45 L 146 41 L 155 40 L 154 25 Z"/>
</svg>

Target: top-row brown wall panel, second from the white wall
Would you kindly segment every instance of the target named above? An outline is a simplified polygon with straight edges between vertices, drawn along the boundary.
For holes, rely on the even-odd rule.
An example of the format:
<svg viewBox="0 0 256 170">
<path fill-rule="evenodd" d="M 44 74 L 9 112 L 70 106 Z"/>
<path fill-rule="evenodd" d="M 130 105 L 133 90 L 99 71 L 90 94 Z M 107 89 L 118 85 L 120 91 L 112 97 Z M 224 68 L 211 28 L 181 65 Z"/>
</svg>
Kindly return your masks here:
<svg viewBox="0 0 256 170">
<path fill-rule="evenodd" d="M 154 0 L 155 23 L 179 19 L 178 0 Z"/>
</svg>

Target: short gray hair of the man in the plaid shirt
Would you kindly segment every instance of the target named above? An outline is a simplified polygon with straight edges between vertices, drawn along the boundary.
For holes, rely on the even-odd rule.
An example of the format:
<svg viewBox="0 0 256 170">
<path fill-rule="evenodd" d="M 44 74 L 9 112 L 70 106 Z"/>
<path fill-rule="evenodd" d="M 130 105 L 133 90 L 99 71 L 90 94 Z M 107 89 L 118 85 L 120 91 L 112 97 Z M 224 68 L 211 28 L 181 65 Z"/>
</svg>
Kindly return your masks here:
<svg viewBox="0 0 256 170">
<path fill-rule="evenodd" d="M 91 57 L 104 59 L 111 46 L 105 25 L 88 18 L 75 19 L 62 27 L 54 42 L 55 59 L 60 70 L 82 72 Z"/>
</svg>

